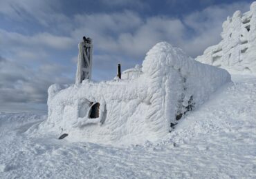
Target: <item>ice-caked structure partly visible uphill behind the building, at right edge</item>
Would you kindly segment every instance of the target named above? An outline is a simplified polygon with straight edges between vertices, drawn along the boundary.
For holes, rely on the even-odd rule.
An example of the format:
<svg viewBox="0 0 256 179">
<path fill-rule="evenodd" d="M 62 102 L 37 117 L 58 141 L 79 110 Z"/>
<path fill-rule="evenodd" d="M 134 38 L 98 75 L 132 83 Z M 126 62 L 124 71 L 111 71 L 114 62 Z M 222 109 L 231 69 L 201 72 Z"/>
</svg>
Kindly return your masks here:
<svg viewBox="0 0 256 179">
<path fill-rule="evenodd" d="M 256 2 L 250 11 L 237 10 L 223 22 L 222 40 L 207 48 L 196 60 L 230 72 L 256 72 Z"/>
</svg>

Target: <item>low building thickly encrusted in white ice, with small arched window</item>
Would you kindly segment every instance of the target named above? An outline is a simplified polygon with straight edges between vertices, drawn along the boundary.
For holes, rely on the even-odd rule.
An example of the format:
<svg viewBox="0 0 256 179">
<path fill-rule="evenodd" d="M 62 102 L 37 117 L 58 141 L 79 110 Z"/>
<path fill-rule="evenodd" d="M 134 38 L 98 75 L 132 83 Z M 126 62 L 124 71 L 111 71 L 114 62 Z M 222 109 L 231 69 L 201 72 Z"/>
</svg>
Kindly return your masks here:
<svg viewBox="0 0 256 179">
<path fill-rule="evenodd" d="M 73 141 L 159 140 L 189 105 L 199 107 L 230 81 L 226 70 L 195 61 L 167 42 L 157 43 L 147 52 L 142 67 L 137 65 L 125 75 L 100 83 L 51 85 L 48 120 L 41 127 L 67 133 Z"/>
</svg>

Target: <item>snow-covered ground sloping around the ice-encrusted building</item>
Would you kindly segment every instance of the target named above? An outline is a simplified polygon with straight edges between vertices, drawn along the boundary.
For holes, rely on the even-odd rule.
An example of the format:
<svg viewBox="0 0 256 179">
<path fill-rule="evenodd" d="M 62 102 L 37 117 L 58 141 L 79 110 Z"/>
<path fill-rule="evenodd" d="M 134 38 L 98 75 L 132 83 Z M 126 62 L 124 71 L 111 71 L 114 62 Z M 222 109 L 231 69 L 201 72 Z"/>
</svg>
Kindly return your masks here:
<svg viewBox="0 0 256 179">
<path fill-rule="evenodd" d="M 232 75 L 158 143 L 71 143 L 0 114 L 0 178 L 256 178 L 256 76 Z M 29 130 L 28 130 L 29 129 Z"/>
</svg>

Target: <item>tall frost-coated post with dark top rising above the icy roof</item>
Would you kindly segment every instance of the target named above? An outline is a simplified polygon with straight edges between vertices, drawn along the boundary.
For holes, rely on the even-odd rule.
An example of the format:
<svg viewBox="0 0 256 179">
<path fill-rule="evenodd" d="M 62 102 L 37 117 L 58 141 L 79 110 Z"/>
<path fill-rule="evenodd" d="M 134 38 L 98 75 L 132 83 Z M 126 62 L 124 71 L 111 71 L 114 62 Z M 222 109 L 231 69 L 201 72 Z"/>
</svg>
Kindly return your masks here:
<svg viewBox="0 0 256 179">
<path fill-rule="evenodd" d="M 75 83 L 82 83 L 84 79 L 91 80 L 91 67 L 93 60 L 93 43 L 90 38 L 83 36 L 83 41 L 78 44 L 78 60 Z"/>
</svg>

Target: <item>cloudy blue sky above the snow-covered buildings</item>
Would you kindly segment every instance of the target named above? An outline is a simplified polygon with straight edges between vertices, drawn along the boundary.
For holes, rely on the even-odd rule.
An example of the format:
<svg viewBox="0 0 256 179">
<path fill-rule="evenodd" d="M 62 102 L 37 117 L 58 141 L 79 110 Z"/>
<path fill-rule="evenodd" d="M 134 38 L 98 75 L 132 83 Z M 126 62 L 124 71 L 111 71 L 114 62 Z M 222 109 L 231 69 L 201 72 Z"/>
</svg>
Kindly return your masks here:
<svg viewBox="0 0 256 179">
<path fill-rule="evenodd" d="M 47 89 L 74 83 L 77 43 L 94 43 L 93 80 L 141 64 L 167 41 L 196 57 L 221 40 L 221 25 L 252 1 L 1 0 L 0 112 L 47 112 Z"/>
</svg>

